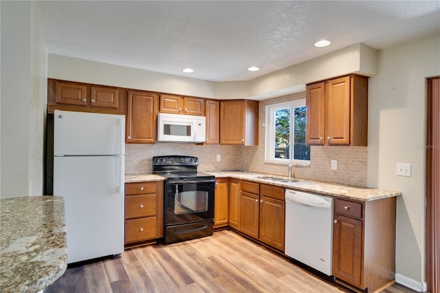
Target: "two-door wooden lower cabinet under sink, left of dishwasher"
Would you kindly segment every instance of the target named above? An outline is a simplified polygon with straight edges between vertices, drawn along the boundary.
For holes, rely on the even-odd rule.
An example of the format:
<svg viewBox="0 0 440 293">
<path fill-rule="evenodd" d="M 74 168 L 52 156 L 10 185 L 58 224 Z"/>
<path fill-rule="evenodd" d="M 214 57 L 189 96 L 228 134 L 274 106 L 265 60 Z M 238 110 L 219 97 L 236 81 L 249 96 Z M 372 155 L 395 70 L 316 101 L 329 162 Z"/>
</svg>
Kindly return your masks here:
<svg viewBox="0 0 440 293">
<path fill-rule="evenodd" d="M 284 251 L 284 188 L 241 181 L 240 231 Z"/>
</svg>

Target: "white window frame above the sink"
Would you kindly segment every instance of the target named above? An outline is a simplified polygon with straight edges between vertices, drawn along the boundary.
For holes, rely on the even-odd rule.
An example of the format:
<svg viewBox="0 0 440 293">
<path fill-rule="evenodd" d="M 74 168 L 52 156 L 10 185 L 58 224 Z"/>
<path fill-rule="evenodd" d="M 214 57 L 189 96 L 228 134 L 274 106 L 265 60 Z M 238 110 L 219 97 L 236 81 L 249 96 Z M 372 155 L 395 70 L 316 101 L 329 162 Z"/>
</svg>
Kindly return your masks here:
<svg viewBox="0 0 440 293">
<path fill-rule="evenodd" d="M 275 158 L 275 111 L 280 109 L 290 109 L 291 120 L 290 120 L 290 138 L 289 143 L 291 146 L 294 146 L 294 121 L 293 121 L 293 113 L 294 109 L 298 107 L 306 107 L 305 98 L 299 100 L 292 100 L 288 102 L 280 102 L 277 104 L 267 105 L 265 108 L 265 162 L 272 164 L 294 164 L 299 166 L 310 166 L 310 160 L 296 160 L 294 157 L 294 147 L 289 149 L 290 154 L 289 158 L 292 159 L 282 159 Z M 307 111 L 307 109 L 306 109 Z M 307 123 L 307 122 L 306 122 Z"/>
</svg>

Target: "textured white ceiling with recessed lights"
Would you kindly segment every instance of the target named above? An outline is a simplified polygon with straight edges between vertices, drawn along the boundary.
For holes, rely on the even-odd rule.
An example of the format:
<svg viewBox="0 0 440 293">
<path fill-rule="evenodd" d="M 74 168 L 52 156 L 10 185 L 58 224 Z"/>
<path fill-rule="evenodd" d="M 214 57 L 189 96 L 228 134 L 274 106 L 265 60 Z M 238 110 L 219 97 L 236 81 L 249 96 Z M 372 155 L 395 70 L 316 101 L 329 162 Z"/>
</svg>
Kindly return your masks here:
<svg viewBox="0 0 440 293">
<path fill-rule="evenodd" d="M 440 32 L 440 1 L 39 1 L 39 10 L 51 54 L 212 81 Z M 318 39 L 332 44 L 314 47 Z"/>
</svg>

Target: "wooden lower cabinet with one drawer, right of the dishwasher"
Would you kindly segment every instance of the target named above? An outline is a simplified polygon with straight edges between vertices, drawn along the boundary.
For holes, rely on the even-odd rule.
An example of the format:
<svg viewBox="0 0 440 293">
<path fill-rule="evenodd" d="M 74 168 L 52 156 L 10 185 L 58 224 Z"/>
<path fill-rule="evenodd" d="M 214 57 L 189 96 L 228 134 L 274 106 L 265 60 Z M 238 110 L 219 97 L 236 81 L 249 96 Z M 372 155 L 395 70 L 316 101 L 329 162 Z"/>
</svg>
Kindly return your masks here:
<svg viewBox="0 0 440 293">
<path fill-rule="evenodd" d="M 376 292 L 395 276 L 396 198 L 370 202 L 336 198 L 333 208 L 333 276 Z"/>
</svg>

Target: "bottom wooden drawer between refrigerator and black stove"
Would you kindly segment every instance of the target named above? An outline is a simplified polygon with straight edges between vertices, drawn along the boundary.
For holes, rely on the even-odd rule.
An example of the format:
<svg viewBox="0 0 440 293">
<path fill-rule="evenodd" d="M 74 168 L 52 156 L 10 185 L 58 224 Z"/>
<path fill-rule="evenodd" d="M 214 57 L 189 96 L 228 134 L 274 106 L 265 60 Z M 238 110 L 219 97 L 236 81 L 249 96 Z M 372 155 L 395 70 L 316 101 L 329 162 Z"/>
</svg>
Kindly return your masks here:
<svg viewBox="0 0 440 293">
<path fill-rule="evenodd" d="M 125 221 L 125 243 L 154 239 L 157 235 L 156 217 Z"/>
</svg>

